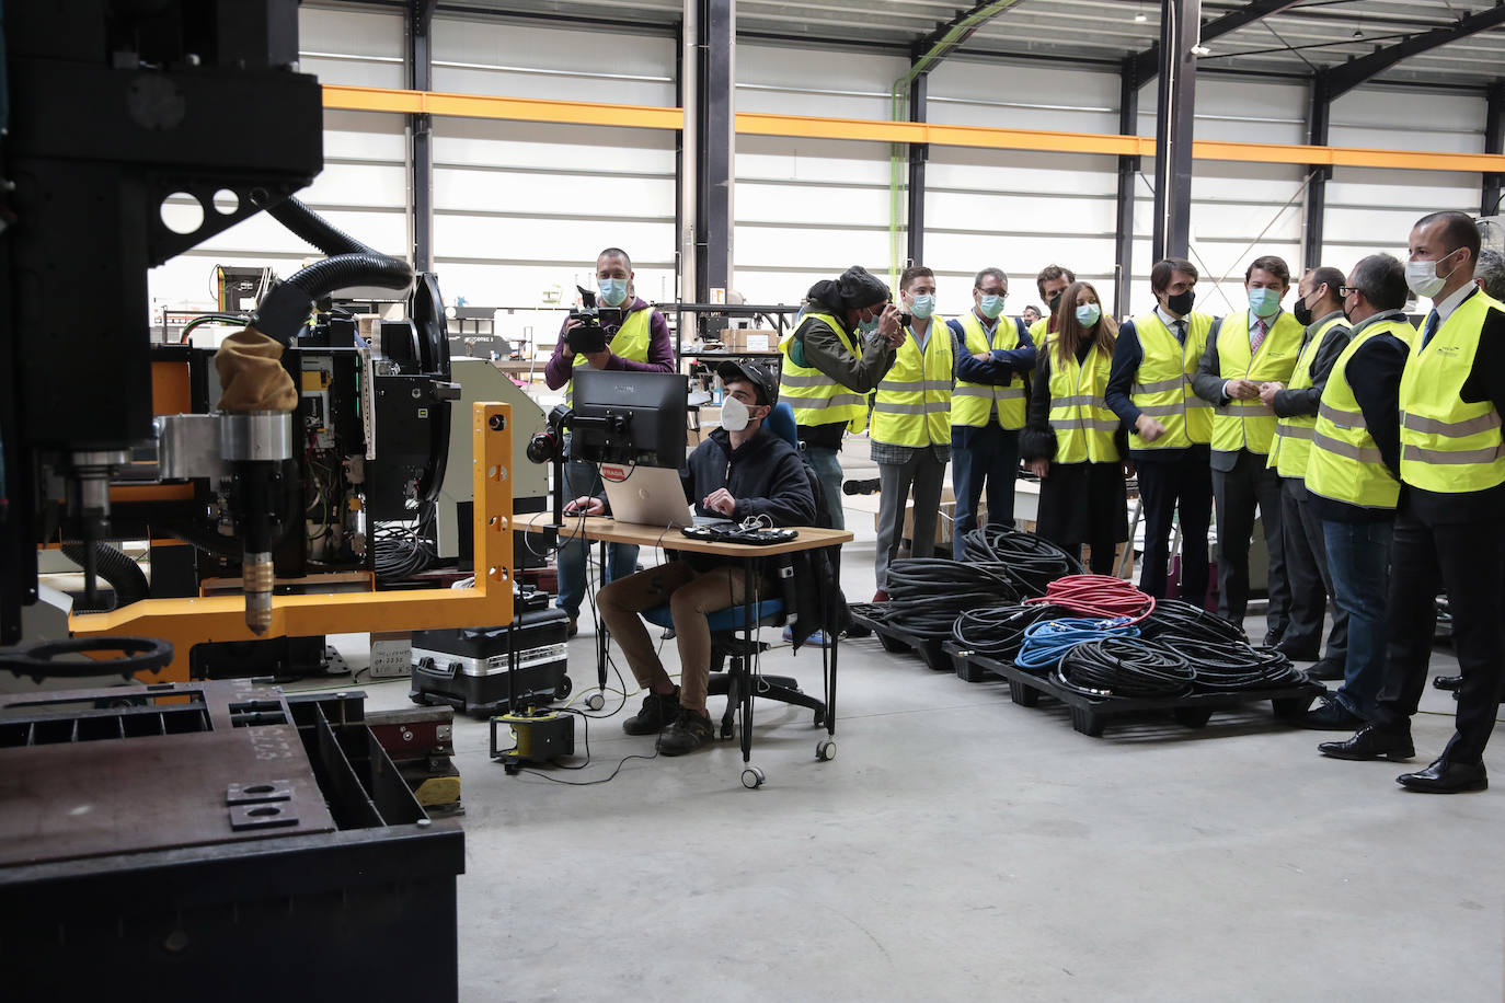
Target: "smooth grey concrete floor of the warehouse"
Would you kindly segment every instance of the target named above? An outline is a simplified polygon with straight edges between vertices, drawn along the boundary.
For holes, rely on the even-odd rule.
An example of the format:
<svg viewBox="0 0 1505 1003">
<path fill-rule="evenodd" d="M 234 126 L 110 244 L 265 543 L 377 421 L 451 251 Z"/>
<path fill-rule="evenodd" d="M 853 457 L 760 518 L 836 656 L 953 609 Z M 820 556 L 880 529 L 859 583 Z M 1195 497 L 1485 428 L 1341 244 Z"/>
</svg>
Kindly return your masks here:
<svg viewBox="0 0 1505 1003">
<path fill-rule="evenodd" d="M 873 588 L 855 508 L 853 601 Z M 1500 786 L 1427 797 L 1395 785 L 1404 767 L 1320 758 L 1329 735 L 1267 707 L 1088 738 L 1060 705 L 1017 707 L 874 639 L 843 644 L 840 665 L 838 756 L 816 761 L 805 711 L 760 704 L 757 791 L 736 743 L 634 759 L 596 786 L 509 777 L 486 723 L 458 720 L 462 998 L 1502 997 L 1500 741 Z M 1433 671 L 1454 665 L 1439 653 Z M 585 632 L 570 666 L 578 695 L 594 677 Z M 813 650 L 763 668 L 819 687 Z M 408 704 L 405 680 L 361 689 L 373 708 Z M 1451 707 L 1428 689 L 1419 765 Z M 652 755 L 623 716 L 591 723 L 587 770 L 549 776 Z"/>
</svg>

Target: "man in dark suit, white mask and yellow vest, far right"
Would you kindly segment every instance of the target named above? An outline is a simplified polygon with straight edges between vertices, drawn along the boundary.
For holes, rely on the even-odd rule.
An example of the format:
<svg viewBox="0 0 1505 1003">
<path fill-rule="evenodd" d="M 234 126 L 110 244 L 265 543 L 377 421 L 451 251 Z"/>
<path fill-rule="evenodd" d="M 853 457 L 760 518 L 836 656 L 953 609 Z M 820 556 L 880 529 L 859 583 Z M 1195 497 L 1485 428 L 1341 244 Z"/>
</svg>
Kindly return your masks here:
<svg viewBox="0 0 1505 1003">
<path fill-rule="evenodd" d="M 1318 749 L 1339 759 L 1407 759 L 1427 684 L 1433 600 L 1446 589 L 1463 683 L 1457 731 L 1425 770 L 1397 782 L 1457 794 L 1488 786 L 1484 746 L 1505 681 L 1505 305 L 1473 283 L 1479 230 L 1434 212 L 1410 233 L 1406 284 L 1431 299 L 1400 383 L 1401 490 L 1391 550 L 1385 686 L 1370 723 Z"/>
</svg>

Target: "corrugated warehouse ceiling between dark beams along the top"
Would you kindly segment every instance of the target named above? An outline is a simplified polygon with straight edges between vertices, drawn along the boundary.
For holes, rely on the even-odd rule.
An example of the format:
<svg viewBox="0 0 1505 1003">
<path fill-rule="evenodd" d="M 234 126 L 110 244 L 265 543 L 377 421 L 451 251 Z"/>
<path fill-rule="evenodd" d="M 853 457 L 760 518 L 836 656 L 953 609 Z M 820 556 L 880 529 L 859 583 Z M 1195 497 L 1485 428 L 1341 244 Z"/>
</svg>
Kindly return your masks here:
<svg viewBox="0 0 1505 1003">
<path fill-rule="evenodd" d="M 971 0 L 980 8 L 1004 6 Z M 737 0 L 745 41 L 864 42 L 909 50 L 935 38 L 974 8 L 969 0 Z M 1388 66 L 1374 80 L 1485 86 L 1505 66 L 1505 11 L 1494 0 L 1202 0 L 1202 24 L 1248 8 L 1273 14 L 1207 39 L 1202 69 L 1311 75 L 1406 44 L 1430 32 L 1484 30 L 1451 38 Z M 528 20 L 632 23 L 671 29 L 680 0 L 461 0 L 441 12 Z M 1120 63 L 1159 38 L 1159 0 L 1017 0 L 986 20 L 954 50 L 960 54 L 1023 54 L 1066 62 Z M 1463 32 L 1457 32 L 1463 35 Z"/>
</svg>

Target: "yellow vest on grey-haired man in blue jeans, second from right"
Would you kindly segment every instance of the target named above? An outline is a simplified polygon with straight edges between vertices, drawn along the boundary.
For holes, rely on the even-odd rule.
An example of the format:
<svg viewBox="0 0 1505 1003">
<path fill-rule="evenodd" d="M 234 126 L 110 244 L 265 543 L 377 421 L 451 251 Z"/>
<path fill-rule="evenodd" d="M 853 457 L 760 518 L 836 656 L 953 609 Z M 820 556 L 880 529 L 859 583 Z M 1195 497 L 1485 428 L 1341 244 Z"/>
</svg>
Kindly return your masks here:
<svg viewBox="0 0 1505 1003">
<path fill-rule="evenodd" d="M 1348 359 L 1359 346 L 1380 334 L 1394 334 L 1412 344 L 1416 328 L 1401 317 L 1377 320 L 1348 343 L 1327 374 L 1306 459 L 1306 490 L 1359 508 L 1395 508 L 1401 493 L 1401 483 L 1380 459 L 1348 385 Z M 1315 335 L 1312 340 L 1317 340 Z"/>
</svg>

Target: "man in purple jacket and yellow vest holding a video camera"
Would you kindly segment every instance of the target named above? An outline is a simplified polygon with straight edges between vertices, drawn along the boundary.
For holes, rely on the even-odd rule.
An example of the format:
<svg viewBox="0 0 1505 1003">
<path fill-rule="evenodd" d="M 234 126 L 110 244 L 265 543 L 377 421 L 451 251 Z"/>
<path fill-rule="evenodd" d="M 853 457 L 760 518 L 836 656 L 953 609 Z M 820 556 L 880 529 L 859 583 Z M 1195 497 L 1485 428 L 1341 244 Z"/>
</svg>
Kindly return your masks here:
<svg viewBox="0 0 1505 1003">
<path fill-rule="evenodd" d="M 597 370 L 631 370 L 640 373 L 673 373 L 674 371 L 674 341 L 668 334 L 668 322 L 658 310 L 638 299 L 632 290 L 632 260 L 628 253 L 608 247 L 596 259 L 596 286 L 600 290 L 600 329 L 605 334 L 604 344 L 590 346 L 593 350 L 576 352 L 570 347 L 575 340 L 581 344 L 579 331 L 582 322 L 576 317 L 564 320 L 560 328 L 558 343 L 554 346 L 554 358 L 543 368 L 543 379 L 549 389 L 564 386 L 564 403 L 572 403 L 575 380 L 572 373 L 576 365 L 590 365 Z M 572 337 L 572 332 L 573 337 Z M 599 337 L 599 335 L 597 335 Z M 584 347 L 584 346 L 582 346 Z M 564 454 L 570 456 L 569 442 Z M 570 459 L 564 465 L 564 490 L 570 498 L 600 493 L 600 474 L 584 460 Z M 637 571 L 638 549 L 625 543 L 608 544 L 607 580 L 626 577 Z M 558 550 L 558 600 L 557 606 L 569 614 L 569 633 L 575 636 L 579 618 L 579 605 L 585 598 L 585 544 L 581 540 L 570 540 Z"/>
</svg>

